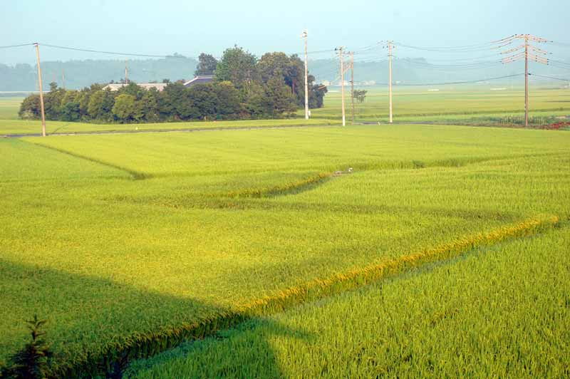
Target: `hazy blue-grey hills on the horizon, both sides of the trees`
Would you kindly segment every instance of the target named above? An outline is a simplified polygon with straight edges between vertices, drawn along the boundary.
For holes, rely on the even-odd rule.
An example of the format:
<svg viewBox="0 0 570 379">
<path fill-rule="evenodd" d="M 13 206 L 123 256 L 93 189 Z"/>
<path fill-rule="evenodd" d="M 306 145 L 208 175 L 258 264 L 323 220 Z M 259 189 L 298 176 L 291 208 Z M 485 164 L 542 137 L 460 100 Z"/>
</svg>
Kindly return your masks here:
<svg viewBox="0 0 570 379">
<path fill-rule="evenodd" d="M 173 56 L 164 59 L 146 59 L 128 61 L 128 78 L 137 83 L 150 81 L 162 82 L 163 79 L 177 81 L 194 77 L 197 61 L 192 58 Z M 383 84 L 388 82 L 387 61 L 356 61 L 356 84 Z M 483 63 L 482 66 L 487 66 Z M 62 85 L 62 74 L 65 71 L 66 88 L 77 89 L 92 83 L 108 83 L 125 78 L 125 61 L 122 60 L 86 60 L 86 61 L 46 61 L 42 63 L 43 84 L 56 81 Z M 309 72 L 316 77 L 317 83 L 340 83 L 339 62 L 336 59 L 309 61 Z M 393 80 L 400 84 L 441 83 L 450 81 L 477 81 L 485 78 L 509 76 L 524 72 L 522 63 L 492 66 L 487 68 L 453 68 L 437 66 L 424 58 L 410 60 L 394 59 Z M 534 63 L 531 72 L 559 78 L 568 78 L 569 71 L 552 66 L 541 66 Z M 350 71 L 345 77 L 350 80 Z M 519 79 L 506 78 L 495 83 L 517 83 Z M 532 81 L 541 81 L 532 78 Z M 327 83 L 327 84 L 328 84 Z M 564 84 L 561 82 L 561 84 Z M 0 92 L 37 90 L 36 68 L 28 64 L 6 66 L 0 64 Z"/>
</svg>

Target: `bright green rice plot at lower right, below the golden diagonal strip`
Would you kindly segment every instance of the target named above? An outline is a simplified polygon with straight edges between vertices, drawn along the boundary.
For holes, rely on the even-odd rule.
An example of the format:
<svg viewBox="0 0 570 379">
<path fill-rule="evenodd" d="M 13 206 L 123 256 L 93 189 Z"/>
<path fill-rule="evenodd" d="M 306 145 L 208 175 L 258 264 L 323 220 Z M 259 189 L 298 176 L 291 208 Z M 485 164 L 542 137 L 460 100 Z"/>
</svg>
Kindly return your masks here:
<svg viewBox="0 0 570 379">
<path fill-rule="evenodd" d="M 187 343 L 131 378 L 562 378 L 570 229 L 478 249 Z"/>
</svg>

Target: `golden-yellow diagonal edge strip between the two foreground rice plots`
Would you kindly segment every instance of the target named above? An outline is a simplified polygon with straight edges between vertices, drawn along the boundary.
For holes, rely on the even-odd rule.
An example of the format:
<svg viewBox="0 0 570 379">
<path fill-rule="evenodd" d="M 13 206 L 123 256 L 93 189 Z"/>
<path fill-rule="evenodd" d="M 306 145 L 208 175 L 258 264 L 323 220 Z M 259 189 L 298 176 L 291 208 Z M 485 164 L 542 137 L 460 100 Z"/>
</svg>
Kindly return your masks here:
<svg viewBox="0 0 570 379">
<path fill-rule="evenodd" d="M 490 232 L 472 234 L 455 241 L 440 244 L 413 254 L 371 264 L 345 273 L 333 274 L 327 278 L 315 279 L 294 286 L 273 296 L 264 296 L 242 303 L 228 311 L 214 313 L 208 318 L 185 323 L 179 326 L 160 328 L 148 333 L 135 333 L 123 341 L 115 341 L 102 346 L 98 351 L 76 352 L 68 360 L 53 362 L 50 378 L 78 377 L 109 373 L 118 365 L 125 366 L 130 360 L 147 358 L 180 343 L 212 336 L 225 328 L 257 316 L 266 316 L 291 308 L 292 306 L 315 301 L 318 298 L 341 294 L 375 281 L 401 274 L 424 264 L 444 261 L 482 246 L 492 246 L 499 242 L 519 237 L 528 237 L 556 227 L 560 219 L 553 215 L 541 215 L 522 222 L 499 227 Z"/>
</svg>

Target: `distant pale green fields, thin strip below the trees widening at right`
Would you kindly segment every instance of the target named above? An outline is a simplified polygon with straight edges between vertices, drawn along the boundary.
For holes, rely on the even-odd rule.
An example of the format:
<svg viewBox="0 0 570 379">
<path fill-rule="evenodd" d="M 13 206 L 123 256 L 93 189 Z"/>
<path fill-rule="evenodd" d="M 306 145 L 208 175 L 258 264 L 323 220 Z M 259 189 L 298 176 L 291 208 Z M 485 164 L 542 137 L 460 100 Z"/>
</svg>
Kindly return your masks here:
<svg viewBox="0 0 570 379">
<path fill-rule="evenodd" d="M 500 87 L 500 86 L 499 86 Z M 394 121 L 396 123 L 445 123 L 512 126 L 522 125 L 524 90 L 507 86 L 492 90 L 493 85 L 444 85 L 439 91 L 429 87 L 398 87 L 394 91 Z M 388 93 L 385 87 L 363 87 L 368 90 L 364 103 L 356 103 L 357 123 L 387 123 Z M 41 133 L 39 121 L 18 120 L 21 98 L 0 98 L 0 135 Z M 531 119 L 534 126 L 556 122 L 556 117 L 568 116 L 570 121 L 570 90 L 532 88 Z M 304 120 L 299 110 L 296 119 L 244 120 L 192 123 L 108 124 L 65 123 L 48 121 L 48 133 L 78 133 L 97 131 L 130 132 L 136 130 L 180 130 L 201 128 L 244 128 L 299 125 L 339 125 L 341 121 L 340 88 L 331 87 L 325 107 L 311 110 L 311 120 Z M 351 123 L 350 87 L 346 88 L 346 119 Z"/>
</svg>

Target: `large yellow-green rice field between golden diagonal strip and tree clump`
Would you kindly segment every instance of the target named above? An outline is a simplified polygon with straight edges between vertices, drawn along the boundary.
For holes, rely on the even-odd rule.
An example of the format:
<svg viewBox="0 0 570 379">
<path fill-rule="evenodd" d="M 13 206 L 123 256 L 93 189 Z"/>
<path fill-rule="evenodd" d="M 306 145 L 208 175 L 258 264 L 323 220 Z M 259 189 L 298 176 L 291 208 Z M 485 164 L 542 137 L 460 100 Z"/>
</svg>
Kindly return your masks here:
<svg viewBox="0 0 570 379">
<path fill-rule="evenodd" d="M 73 365 L 311 281 L 567 219 L 569 142 L 420 125 L 0 140 L 0 360 L 33 313 Z"/>
</svg>

